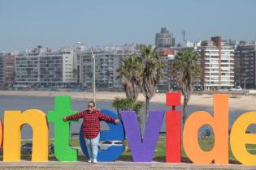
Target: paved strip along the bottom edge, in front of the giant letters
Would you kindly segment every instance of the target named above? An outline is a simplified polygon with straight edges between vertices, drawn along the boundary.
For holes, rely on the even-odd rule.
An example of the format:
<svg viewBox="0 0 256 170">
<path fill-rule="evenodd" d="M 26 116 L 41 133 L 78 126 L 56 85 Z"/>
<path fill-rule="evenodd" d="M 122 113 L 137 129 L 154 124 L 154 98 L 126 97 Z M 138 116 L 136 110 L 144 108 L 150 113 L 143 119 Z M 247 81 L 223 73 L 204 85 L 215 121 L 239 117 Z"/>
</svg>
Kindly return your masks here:
<svg viewBox="0 0 256 170">
<path fill-rule="evenodd" d="M 104 162 L 98 164 L 89 164 L 86 162 L 57 162 L 50 161 L 47 163 L 33 163 L 30 161 L 22 161 L 20 163 L 1 163 L 0 169 L 256 169 L 256 166 L 245 166 L 240 164 L 216 165 L 216 164 L 167 164 L 167 163 L 134 163 L 134 162 Z"/>
</svg>

